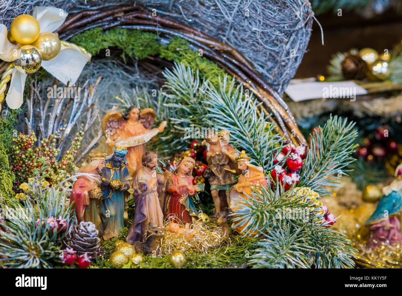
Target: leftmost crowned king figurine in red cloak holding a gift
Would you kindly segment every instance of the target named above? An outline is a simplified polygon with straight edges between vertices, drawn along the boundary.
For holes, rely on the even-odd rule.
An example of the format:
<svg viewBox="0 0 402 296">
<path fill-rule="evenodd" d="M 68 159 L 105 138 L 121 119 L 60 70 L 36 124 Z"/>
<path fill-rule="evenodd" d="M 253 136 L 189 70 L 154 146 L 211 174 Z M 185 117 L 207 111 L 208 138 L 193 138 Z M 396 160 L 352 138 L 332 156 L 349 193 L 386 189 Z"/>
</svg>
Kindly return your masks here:
<svg viewBox="0 0 402 296">
<path fill-rule="evenodd" d="M 106 153 L 89 153 L 91 162 L 79 168 L 76 172 L 78 178 L 74 182 L 70 195 L 72 209 L 76 211 L 77 223 L 92 222 L 100 232 L 100 197 L 102 192 L 98 187 L 100 171 L 105 167 Z"/>
</svg>

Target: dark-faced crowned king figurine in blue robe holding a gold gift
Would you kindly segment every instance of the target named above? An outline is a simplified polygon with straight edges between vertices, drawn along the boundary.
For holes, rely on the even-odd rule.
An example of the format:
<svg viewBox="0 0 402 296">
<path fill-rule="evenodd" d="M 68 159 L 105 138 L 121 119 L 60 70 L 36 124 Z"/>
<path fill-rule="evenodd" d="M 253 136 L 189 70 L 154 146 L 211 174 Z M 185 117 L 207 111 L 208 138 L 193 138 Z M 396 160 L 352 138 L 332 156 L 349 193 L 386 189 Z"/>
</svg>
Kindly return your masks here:
<svg viewBox="0 0 402 296">
<path fill-rule="evenodd" d="M 118 236 L 123 228 L 124 203 L 129 197 L 131 176 L 127 163 L 127 148 L 119 145 L 113 147 L 113 154 L 106 157 L 102 169 L 102 233 L 103 239 L 109 240 Z"/>
</svg>

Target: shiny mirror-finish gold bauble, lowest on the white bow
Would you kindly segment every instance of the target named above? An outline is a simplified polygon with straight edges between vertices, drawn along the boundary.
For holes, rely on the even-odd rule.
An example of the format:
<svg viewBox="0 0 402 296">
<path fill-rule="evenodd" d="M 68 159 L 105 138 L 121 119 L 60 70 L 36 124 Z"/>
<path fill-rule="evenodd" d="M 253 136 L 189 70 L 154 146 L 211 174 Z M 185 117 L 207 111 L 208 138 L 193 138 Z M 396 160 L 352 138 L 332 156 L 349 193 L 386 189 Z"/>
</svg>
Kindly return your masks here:
<svg viewBox="0 0 402 296">
<path fill-rule="evenodd" d="M 35 73 L 41 67 L 41 53 L 33 45 L 21 46 L 16 55 L 18 58 L 14 60 L 14 65 L 23 68 L 26 74 Z"/>
</svg>

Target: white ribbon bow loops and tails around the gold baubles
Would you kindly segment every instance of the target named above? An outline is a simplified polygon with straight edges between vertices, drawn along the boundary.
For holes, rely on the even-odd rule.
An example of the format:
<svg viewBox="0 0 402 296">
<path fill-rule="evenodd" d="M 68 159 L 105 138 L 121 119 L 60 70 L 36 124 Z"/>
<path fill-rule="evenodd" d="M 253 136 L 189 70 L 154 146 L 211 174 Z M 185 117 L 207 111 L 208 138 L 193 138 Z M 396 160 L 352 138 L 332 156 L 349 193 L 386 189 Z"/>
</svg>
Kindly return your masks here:
<svg viewBox="0 0 402 296">
<path fill-rule="evenodd" d="M 39 22 L 40 33 L 57 30 L 64 23 L 67 15 L 68 12 L 61 8 L 48 6 L 35 6 L 32 14 Z M 8 40 L 7 27 L 0 24 L 0 59 L 12 62 L 18 58 L 14 54 L 18 47 L 19 44 L 14 45 Z M 42 60 L 41 66 L 62 83 L 67 84 L 70 81 L 70 85 L 74 85 L 90 58 L 90 54 L 85 54 L 77 46 L 62 44 L 59 54 L 53 60 Z M 10 87 L 6 96 L 7 105 L 11 109 L 21 107 L 26 79 L 27 74 L 22 68 L 12 69 Z"/>
</svg>

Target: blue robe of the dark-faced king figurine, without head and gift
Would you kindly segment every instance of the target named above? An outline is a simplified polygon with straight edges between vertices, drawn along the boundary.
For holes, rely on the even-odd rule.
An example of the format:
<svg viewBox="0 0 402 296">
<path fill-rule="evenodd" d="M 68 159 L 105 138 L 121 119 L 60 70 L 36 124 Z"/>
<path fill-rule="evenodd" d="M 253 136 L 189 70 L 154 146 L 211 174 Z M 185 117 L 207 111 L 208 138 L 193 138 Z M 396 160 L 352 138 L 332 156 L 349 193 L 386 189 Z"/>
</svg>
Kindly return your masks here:
<svg viewBox="0 0 402 296">
<path fill-rule="evenodd" d="M 120 168 L 113 168 L 110 162 L 106 162 L 102 169 L 102 177 L 110 181 L 120 180 L 124 185 L 130 186 L 132 178 L 124 164 Z M 110 186 L 101 186 L 102 190 L 102 232 L 103 239 L 109 240 L 117 237 L 124 226 L 124 204 L 128 191 L 113 190 Z"/>
</svg>

